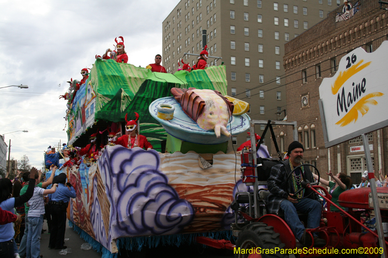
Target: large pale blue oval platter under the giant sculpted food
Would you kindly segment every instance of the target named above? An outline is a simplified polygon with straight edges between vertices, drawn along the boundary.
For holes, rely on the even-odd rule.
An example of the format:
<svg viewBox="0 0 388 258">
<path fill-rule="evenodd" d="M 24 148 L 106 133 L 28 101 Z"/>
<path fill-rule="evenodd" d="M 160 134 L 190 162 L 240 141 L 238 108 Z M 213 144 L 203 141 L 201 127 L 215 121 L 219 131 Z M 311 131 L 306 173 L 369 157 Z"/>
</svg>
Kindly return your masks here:
<svg viewBox="0 0 388 258">
<path fill-rule="evenodd" d="M 163 120 L 158 118 L 159 104 L 170 104 L 175 107 L 174 118 Z M 221 134 L 220 138 L 215 136 L 213 130 L 201 129 L 185 112 L 174 97 L 165 97 L 155 100 L 148 107 L 149 113 L 158 120 L 166 132 L 178 139 L 198 144 L 219 144 L 228 141 L 230 138 Z M 238 135 L 249 129 L 250 118 L 247 114 L 232 116 L 226 129 L 232 135 Z"/>
</svg>

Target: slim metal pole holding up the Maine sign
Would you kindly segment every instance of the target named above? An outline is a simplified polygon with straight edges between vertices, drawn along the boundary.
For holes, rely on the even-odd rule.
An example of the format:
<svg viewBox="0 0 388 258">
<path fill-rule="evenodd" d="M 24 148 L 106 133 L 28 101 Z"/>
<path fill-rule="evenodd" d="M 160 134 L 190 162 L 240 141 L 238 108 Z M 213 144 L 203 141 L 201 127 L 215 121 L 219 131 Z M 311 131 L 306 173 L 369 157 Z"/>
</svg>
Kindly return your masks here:
<svg viewBox="0 0 388 258">
<path fill-rule="evenodd" d="M 377 234 L 380 236 L 379 237 L 380 247 L 383 248 L 383 254 L 381 255 L 381 257 L 387 258 L 387 248 L 386 248 L 385 239 L 384 239 L 384 230 L 383 230 L 383 224 L 381 221 L 380 206 L 379 206 L 379 202 L 378 202 L 376 183 L 374 181 L 371 150 L 369 149 L 368 136 L 366 136 L 365 134 L 362 134 L 361 136 L 362 136 L 362 142 L 364 144 L 365 159 L 367 162 L 369 183 L 371 185 L 371 194 L 372 194 L 374 217 L 376 219 Z"/>
</svg>

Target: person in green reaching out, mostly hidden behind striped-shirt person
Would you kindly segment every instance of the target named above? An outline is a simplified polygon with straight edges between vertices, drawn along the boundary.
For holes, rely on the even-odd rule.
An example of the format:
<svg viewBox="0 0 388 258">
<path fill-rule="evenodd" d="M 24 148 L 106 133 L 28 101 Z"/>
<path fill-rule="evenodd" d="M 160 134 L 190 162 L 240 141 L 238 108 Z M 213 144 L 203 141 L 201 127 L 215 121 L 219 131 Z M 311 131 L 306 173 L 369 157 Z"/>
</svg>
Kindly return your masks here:
<svg viewBox="0 0 388 258">
<path fill-rule="evenodd" d="M 52 173 L 51 173 L 51 176 L 49 177 L 49 179 L 46 181 L 46 182 L 40 182 L 37 184 L 38 187 L 41 187 L 41 188 L 46 188 L 48 187 L 51 183 L 52 183 L 52 180 L 55 176 L 55 170 L 57 169 L 57 167 L 53 167 L 52 169 Z M 42 175 L 42 170 L 39 170 L 39 181 L 40 181 L 40 178 L 41 178 L 41 175 Z M 30 179 L 30 172 L 24 172 L 23 175 L 22 175 L 22 179 L 24 182 L 29 182 L 29 179 Z M 23 188 L 20 190 L 20 195 L 23 195 L 26 191 L 27 191 L 27 188 L 28 188 L 28 183 L 24 183 L 23 184 Z M 20 257 L 23 257 L 25 254 L 26 254 L 26 248 L 27 248 L 27 235 L 28 235 L 28 210 L 30 209 L 30 207 L 27 207 L 26 203 L 24 204 L 24 210 L 25 210 L 25 229 L 24 229 L 24 235 L 23 235 L 23 238 L 21 239 L 20 241 L 20 245 L 19 245 L 19 255 Z"/>
</svg>

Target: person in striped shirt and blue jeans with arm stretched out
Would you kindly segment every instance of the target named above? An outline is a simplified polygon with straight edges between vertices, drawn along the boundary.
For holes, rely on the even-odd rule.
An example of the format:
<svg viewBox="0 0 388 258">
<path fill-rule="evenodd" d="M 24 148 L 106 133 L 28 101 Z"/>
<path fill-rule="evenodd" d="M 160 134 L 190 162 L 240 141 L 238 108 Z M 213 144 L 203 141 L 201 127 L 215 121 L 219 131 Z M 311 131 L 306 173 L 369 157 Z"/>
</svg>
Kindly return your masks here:
<svg viewBox="0 0 388 258">
<path fill-rule="evenodd" d="M 50 189 L 43 189 L 37 186 L 39 176 L 35 175 L 35 188 L 31 199 L 27 202 L 30 207 L 28 211 L 28 235 L 27 235 L 27 258 L 39 258 L 40 256 L 40 234 L 43 226 L 43 215 L 45 214 L 44 195 L 55 193 L 58 184 L 53 184 Z"/>
</svg>

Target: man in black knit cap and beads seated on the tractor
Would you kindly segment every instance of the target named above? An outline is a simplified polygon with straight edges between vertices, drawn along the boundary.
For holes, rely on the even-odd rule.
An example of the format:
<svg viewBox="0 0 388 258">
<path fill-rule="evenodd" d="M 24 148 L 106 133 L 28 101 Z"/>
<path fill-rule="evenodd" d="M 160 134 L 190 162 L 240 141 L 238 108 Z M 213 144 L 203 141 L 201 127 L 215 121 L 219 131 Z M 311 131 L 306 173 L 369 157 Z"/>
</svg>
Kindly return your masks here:
<svg viewBox="0 0 388 258">
<path fill-rule="evenodd" d="M 294 167 L 301 165 L 303 160 L 303 145 L 294 141 L 288 147 L 289 159 L 280 162 L 272 167 L 270 178 L 267 180 L 267 187 L 271 194 L 267 197 L 267 212 L 278 214 L 279 210 L 284 212 L 284 219 L 291 228 L 295 238 L 305 246 L 311 246 L 312 240 L 306 232 L 305 227 L 298 218 L 297 212 L 308 214 L 307 228 L 318 228 L 321 220 L 322 205 L 315 193 L 304 199 L 311 193 L 310 189 L 302 190 L 294 196 L 294 193 L 301 188 L 301 182 L 308 180 L 314 182 L 311 170 L 308 166 L 296 169 L 287 182 L 287 177 Z M 314 235 L 314 246 L 323 246 L 325 241 L 319 239 L 317 233 Z"/>
</svg>

